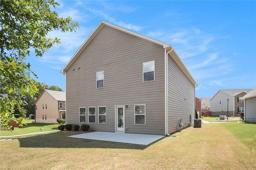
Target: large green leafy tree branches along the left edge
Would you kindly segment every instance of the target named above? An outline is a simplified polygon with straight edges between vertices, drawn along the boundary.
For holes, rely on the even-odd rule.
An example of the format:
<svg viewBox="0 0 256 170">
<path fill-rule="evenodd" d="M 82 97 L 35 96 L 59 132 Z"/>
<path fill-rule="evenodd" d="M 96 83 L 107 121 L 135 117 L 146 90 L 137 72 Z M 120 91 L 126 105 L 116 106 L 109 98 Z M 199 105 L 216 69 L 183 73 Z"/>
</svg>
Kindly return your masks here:
<svg viewBox="0 0 256 170">
<path fill-rule="evenodd" d="M 38 93 L 36 74 L 25 59 L 31 50 L 42 57 L 47 49 L 60 43 L 49 38 L 53 30 L 75 31 L 78 24 L 70 17 L 60 18 L 54 0 L 0 0 L 0 122 L 4 129 L 15 120 L 14 110 L 22 112 L 25 96 Z"/>
</svg>

